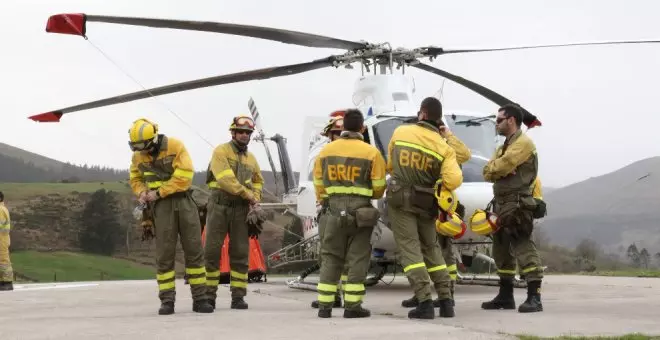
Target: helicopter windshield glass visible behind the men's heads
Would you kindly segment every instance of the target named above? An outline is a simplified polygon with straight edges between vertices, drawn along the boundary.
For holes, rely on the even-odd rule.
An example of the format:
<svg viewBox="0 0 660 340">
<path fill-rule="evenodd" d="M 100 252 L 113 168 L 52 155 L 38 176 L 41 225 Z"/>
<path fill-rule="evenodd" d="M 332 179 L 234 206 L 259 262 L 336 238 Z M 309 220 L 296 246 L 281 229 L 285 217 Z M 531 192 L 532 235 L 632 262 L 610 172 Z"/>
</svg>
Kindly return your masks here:
<svg viewBox="0 0 660 340">
<path fill-rule="evenodd" d="M 411 117 L 394 117 L 373 126 L 374 142 L 387 161 L 387 146 L 392 138 L 394 129 L 401 124 L 415 119 Z M 463 182 L 484 182 L 483 168 L 495 151 L 496 131 L 492 120 L 479 121 L 476 124 L 458 124 L 456 122 L 475 117 L 463 115 L 446 116 L 447 125 L 465 145 L 470 148 L 472 157 L 461 165 Z"/>
</svg>

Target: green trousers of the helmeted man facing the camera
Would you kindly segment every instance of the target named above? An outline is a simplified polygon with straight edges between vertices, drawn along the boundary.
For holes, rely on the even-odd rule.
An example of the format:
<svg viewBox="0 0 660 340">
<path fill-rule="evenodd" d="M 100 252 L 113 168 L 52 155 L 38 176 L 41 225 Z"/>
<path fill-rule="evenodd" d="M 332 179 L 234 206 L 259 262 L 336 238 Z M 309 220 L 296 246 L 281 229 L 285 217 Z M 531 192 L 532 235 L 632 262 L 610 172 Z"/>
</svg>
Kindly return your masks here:
<svg viewBox="0 0 660 340">
<path fill-rule="evenodd" d="M 218 203 L 215 195 L 208 202 L 206 223 L 205 259 L 207 272 L 207 294 L 210 299 L 217 297 L 220 282 L 220 256 L 225 237 L 229 233 L 229 289 L 232 297 L 247 294 L 250 239 L 248 236 L 247 214 L 250 206 L 244 203 Z"/>
</svg>

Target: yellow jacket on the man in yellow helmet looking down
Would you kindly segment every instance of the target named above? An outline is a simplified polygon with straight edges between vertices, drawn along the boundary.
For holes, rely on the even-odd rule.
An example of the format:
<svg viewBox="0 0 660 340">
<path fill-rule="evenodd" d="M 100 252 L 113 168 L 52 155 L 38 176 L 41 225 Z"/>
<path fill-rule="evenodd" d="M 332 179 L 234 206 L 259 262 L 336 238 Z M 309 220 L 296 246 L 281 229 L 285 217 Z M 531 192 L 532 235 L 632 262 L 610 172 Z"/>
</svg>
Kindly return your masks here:
<svg viewBox="0 0 660 340">
<path fill-rule="evenodd" d="M 183 143 L 162 136 L 160 151 L 150 154 L 134 152 L 130 167 L 130 185 L 136 195 L 145 190 L 158 190 L 160 197 L 190 189 L 194 168 Z"/>
</svg>

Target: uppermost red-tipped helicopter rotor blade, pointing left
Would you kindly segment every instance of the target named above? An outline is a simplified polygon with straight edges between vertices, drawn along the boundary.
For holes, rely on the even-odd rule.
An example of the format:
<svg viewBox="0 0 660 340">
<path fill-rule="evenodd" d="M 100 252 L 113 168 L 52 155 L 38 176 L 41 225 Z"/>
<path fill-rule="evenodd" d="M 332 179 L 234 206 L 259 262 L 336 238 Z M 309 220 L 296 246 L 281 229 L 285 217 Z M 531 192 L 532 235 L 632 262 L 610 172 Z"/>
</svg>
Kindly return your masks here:
<svg viewBox="0 0 660 340">
<path fill-rule="evenodd" d="M 84 13 L 56 14 L 48 18 L 46 32 L 85 36 L 87 22 L 103 22 L 132 26 L 171 28 L 240 35 L 252 38 L 279 41 L 307 47 L 339 48 L 358 50 L 367 47 L 366 42 L 356 42 L 317 34 L 284 30 L 272 27 L 239 25 L 212 21 L 171 20 L 156 18 L 118 17 L 87 15 Z"/>
</svg>

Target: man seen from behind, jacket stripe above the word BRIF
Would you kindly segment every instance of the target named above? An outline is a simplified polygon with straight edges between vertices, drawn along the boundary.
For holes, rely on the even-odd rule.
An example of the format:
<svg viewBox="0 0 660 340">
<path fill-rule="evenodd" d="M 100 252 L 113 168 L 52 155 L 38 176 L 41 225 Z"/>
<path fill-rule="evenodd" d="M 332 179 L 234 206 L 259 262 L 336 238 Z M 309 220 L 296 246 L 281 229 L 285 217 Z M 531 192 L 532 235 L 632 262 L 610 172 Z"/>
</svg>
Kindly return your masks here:
<svg viewBox="0 0 660 340">
<path fill-rule="evenodd" d="M 425 98 L 415 124 L 394 130 L 388 146 L 387 209 L 401 264 L 413 286 L 417 307 L 409 318 L 433 319 L 431 284 L 438 294 L 440 317 L 453 317 L 451 278 L 437 243 L 436 190 L 453 191 L 463 182 L 456 151 L 440 136 L 442 104 Z"/>
</svg>

